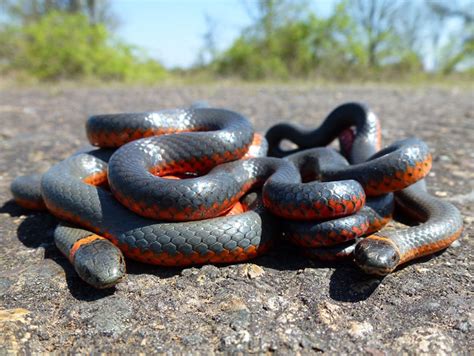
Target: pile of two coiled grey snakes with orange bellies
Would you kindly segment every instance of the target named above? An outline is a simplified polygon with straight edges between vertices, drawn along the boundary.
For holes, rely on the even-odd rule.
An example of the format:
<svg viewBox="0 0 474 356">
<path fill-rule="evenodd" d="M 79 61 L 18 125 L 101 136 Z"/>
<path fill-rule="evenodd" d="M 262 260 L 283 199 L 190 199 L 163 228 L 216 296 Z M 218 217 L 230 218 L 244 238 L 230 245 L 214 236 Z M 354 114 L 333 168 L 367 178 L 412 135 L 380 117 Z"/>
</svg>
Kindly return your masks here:
<svg viewBox="0 0 474 356">
<path fill-rule="evenodd" d="M 459 211 L 426 190 L 427 145 L 408 138 L 382 148 L 364 104 L 337 107 L 314 130 L 282 123 L 265 137 L 241 114 L 204 104 L 92 116 L 86 130 L 98 148 L 18 177 L 11 191 L 20 206 L 60 220 L 56 246 L 96 288 L 124 277 L 124 255 L 234 263 L 284 241 L 309 258 L 349 258 L 386 275 L 462 231 Z M 334 140 L 339 151 L 328 147 Z M 380 231 L 395 207 L 416 224 Z"/>
</svg>

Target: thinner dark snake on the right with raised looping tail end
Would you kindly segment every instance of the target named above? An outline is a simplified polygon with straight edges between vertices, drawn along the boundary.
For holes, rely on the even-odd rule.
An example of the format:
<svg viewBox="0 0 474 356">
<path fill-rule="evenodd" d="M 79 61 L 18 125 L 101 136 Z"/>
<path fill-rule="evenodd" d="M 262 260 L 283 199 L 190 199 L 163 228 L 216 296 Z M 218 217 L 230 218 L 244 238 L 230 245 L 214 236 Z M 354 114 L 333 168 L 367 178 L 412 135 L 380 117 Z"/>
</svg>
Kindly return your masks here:
<svg viewBox="0 0 474 356">
<path fill-rule="evenodd" d="M 352 216 L 313 223 L 288 221 L 286 235 L 304 247 L 306 256 L 323 260 L 351 256 L 364 272 L 384 276 L 408 261 L 446 249 L 461 235 L 459 210 L 427 191 L 424 177 L 432 159 L 426 144 L 409 138 L 380 149 L 381 136 L 377 116 L 367 105 L 357 102 L 340 105 L 314 130 L 291 123 L 268 130 L 269 155 L 286 156 L 309 176 L 353 178 L 372 197 Z M 350 167 L 327 148 L 311 148 L 325 146 L 335 138 L 339 138 L 341 153 L 352 163 Z M 297 148 L 282 149 L 284 139 Z M 331 166 L 324 167 L 318 158 L 328 154 L 333 156 Z M 417 226 L 377 232 L 391 217 L 389 192 L 394 192 L 397 208 L 414 217 Z"/>
</svg>

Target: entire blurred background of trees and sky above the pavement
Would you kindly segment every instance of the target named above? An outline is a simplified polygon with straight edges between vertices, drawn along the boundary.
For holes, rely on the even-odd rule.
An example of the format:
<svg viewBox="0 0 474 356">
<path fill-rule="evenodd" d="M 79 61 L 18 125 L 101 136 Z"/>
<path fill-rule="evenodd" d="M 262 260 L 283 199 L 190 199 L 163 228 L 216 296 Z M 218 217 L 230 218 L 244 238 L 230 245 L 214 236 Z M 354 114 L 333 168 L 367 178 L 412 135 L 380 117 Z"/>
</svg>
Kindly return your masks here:
<svg viewBox="0 0 474 356">
<path fill-rule="evenodd" d="M 474 0 L 0 0 L 15 82 L 474 79 Z"/>
</svg>

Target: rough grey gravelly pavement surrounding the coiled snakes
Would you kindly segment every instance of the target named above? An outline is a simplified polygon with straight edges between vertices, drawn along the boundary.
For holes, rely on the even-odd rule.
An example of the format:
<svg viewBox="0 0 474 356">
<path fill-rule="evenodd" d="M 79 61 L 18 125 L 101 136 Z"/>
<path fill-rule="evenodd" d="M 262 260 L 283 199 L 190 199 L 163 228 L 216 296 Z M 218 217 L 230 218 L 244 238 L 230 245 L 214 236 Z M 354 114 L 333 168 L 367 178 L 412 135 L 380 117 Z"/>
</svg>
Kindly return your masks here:
<svg viewBox="0 0 474 356">
<path fill-rule="evenodd" d="M 252 263 L 169 269 L 128 261 L 114 290 L 85 285 L 53 243 L 56 224 L 10 201 L 20 174 L 42 172 L 86 144 L 94 113 L 208 100 L 258 130 L 317 126 L 335 106 L 367 102 L 384 143 L 416 135 L 433 151 L 433 194 L 461 209 L 447 251 L 383 278 L 281 246 Z M 472 89 L 191 86 L 0 91 L 0 354 L 69 352 L 474 352 Z"/>
</svg>

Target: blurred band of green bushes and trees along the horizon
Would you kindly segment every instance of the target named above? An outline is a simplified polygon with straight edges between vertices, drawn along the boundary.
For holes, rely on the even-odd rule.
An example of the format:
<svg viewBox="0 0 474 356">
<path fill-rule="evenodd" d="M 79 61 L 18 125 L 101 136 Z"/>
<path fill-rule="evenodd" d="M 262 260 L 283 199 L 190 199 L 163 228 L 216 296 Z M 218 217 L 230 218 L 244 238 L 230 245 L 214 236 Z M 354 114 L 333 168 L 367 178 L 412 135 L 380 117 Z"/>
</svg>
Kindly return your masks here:
<svg viewBox="0 0 474 356">
<path fill-rule="evenodd" d="M 206 17 L 205 46 L 196 54 L 200 64 L 171 72 L 113 35 L 117 21 L 110 4 L 0 0 L 0 11 L 7 14 L 0 17 L 0 73 L 41 81 L 140 83 L 165 77 L 474 79 L 474 8 L 469 1 L 340 0 L 330 16 L 322 17 L 309 0 L 255 0 L 247 3 L 252 24 L 222 51 L 216 47 L 215 23 Z M 430 68 L 427 59 L 433 62 Z"/>
</svg>

